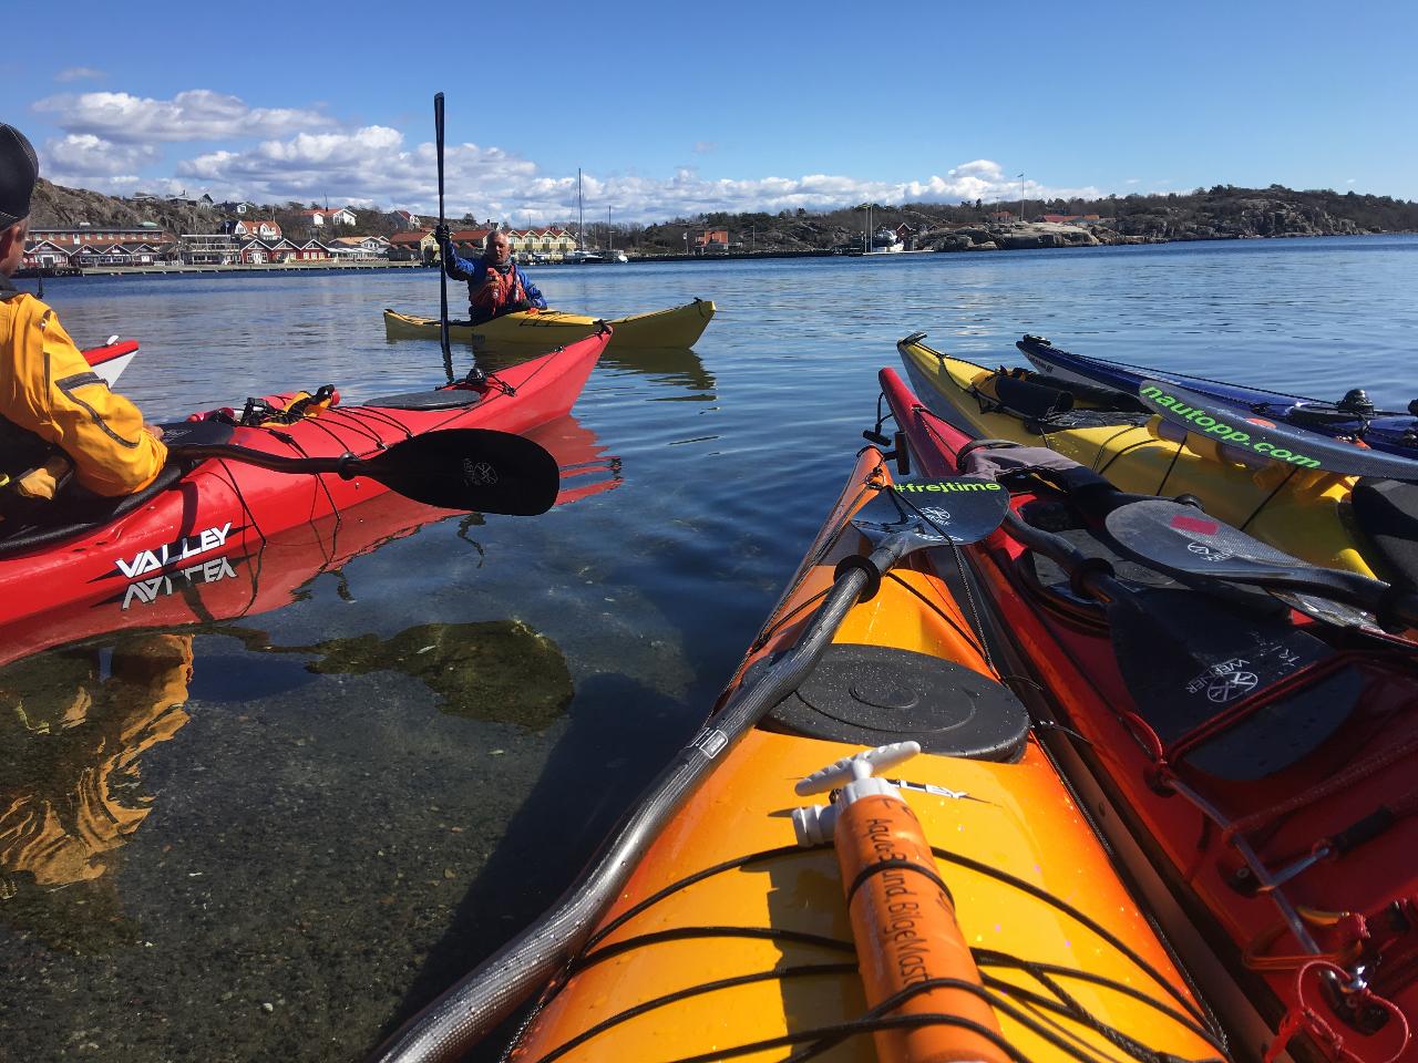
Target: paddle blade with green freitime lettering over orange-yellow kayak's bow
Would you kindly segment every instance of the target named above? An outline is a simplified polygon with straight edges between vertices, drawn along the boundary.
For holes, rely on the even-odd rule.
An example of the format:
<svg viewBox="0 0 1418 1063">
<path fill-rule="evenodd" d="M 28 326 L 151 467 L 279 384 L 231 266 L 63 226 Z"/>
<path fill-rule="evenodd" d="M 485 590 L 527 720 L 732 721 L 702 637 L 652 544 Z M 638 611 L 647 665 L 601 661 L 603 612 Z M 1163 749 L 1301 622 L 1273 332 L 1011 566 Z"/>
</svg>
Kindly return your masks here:
<svg viewBox="0 0 1418 1063">
<path fill-rule="evenodd" d="M 888 519 L 871 519 L 883 509 L 889 510 Z M 852 524 L 873 544 L 891 534 L 912 536 L 917 541 L 909 553 L 927 546 L 978 543 L 1004 523 L 1008 512 L 1008 489 L 983 476 L 900 480 L 882 490 L 868 516 Z"/>
</svg>

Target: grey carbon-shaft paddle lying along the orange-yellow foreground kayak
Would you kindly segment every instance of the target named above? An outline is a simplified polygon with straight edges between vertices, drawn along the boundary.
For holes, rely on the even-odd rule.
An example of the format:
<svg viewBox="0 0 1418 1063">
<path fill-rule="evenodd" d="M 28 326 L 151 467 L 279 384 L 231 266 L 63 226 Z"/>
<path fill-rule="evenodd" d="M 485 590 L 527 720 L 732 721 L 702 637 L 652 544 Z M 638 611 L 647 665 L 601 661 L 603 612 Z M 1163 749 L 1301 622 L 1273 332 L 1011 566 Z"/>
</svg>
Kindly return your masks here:
<svg viewBox="0 0 1418 1063">
<path fill-rule="evenodd" d="M 960 482 L 934 480 L 934 483 Z M 944 505 L 954 506 L 947 517 L 949 534 L 953 541 L 961 544 L 988 536 L 1000 526 L 1008 510 L 1007 490 L 974 488 L 959 492 L 930 490 L 927 485 L 923 492 L 906 489 L 885 493 L 892 499 L 915 499 L 917 495 L 932 499 L 949 496 L 951 502 Z M 957 505 L 954 502 L 957 495 L 970 500 Z M 993 499 L 997 495 L 1004 497 L 1004 506 L 994 506 Z M 984 497 L 991 499 L 993 510 L 983 503 Z M 916 506 L 910 503 L 898 505 L 898 512 L 913 509 Z M 771 665 L 760 672 L 756 680 L 735 689 L 703 730 L 659 772 L 649 789 L 621 819 L 607 843 L 563 894 L 562 901 L 479 964 L 425 1011 L 410 1019 L 372 1059 L 379 1063 L 461 1059 L 529 994 L 540 988 L 576 955 L 590 938 L 605 909 L 620 894 L 641 853 L 655 840 L 679 805 L 713 770 L 725 750 L 807 679 L 831 645 L 832 635 L 847 614 L 858 601 L 871 597 L 872 588 L 881 581 L 881 574 L 915 550 L 943 544 L 942 533 L 929 530 L 930 524 L 940 522 L 939 516 L 929 519 L 925 516 L 929 509 L 934 506 L 922 506 L 919 519 L 915 514 L 903 516 L 900 527 L 893 533 L 885 533 L 871 557 L 858 556 L 855 561 L 844 558 L 837 568 L 832 587 L 813 614 L 797 645 L 771 658 Z M 922 520 L 926 522 L 926 529 L 922 527 Z"/>
</svg>

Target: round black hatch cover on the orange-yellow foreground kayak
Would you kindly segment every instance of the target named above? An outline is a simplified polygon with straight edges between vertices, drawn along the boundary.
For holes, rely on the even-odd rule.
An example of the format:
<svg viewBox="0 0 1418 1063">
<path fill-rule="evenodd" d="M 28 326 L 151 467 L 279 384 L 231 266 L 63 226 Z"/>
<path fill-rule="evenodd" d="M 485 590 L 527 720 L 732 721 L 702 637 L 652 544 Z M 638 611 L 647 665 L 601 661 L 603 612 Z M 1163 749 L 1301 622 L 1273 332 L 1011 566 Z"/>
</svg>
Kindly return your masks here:
<svg viewBox="0 0 1418 1063">
<path fill-rule="evenodd" d="M 856 746 L 915 740 L 939 755 L 1017 761 L 1029 713 L 1008 687 L 963 665 L 892 646 L 834 643 L 766 726 Z"/>
</svg>

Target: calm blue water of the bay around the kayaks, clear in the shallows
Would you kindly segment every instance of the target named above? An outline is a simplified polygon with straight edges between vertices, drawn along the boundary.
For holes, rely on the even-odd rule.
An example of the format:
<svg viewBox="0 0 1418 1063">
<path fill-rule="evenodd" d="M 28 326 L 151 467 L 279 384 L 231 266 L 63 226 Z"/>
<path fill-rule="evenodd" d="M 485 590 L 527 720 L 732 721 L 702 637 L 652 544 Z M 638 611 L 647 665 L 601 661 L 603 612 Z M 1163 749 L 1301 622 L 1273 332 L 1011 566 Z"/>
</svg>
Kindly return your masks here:
<svg viewBox="0 0 1418 1063">
<path fill-rule="evenodd" d="M 693 354 L 613 349 L 593 374 L 576 418 L 610 489 L 312 564 L 298 594 L 267 584 L 284 608 L 0 672 L 0 1059 L 359 1059 L 554 899 L 695 730 L 909 332 L 987 363 L 1032 332 L 1302 394 L 1418 395 L 1418 238 L 536 279 L 604 316 L 719 305 Z M 441 378 L 437 344 L 387 343 L 379 313 L 435 312 L 427 272 L 47 299 L 81 343 L 142 340 L 123 390 L 155 418 Z"/>
</svg>

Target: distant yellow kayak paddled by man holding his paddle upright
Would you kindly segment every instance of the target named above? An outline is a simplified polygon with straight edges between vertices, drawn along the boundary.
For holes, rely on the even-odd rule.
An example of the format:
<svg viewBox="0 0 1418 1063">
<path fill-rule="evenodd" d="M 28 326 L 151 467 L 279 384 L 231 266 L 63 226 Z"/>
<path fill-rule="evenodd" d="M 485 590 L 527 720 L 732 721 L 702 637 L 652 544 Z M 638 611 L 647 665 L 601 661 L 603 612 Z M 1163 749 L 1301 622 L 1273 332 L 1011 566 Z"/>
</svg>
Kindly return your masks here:
<svg viewBox="0 0 1418 1063">
<path fill-rule="evenodd" d="M 672 306 L 668 310 L 615 317 L 605 322 L 614 330 L 610 346 L 678 347 L 683 350 L 699 342 L 713 313 L 712 300 L 695 299 L 692 303 Z M 448 337 L 459 343 L 472 343 L 474 347 L 530 346 L 552 350 L 583 336 L 590 336 L 600 322 L 600 317 L 567 313 L 566 310 L 525 310 L 506 313 L 482 325 L 450 322 Z M 437 340 L 438 319 L 384 310 L 384 332 L 391 340 Z"/>
</svg>

